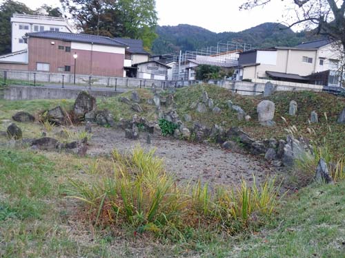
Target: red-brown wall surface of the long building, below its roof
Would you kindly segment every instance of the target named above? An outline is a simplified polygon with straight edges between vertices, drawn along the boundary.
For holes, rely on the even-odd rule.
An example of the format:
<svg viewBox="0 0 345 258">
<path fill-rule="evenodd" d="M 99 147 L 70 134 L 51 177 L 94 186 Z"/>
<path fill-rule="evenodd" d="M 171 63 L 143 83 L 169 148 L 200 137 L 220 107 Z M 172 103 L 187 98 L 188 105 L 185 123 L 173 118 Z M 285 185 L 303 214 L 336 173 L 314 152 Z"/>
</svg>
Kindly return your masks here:
<svg viewBox="0 0 345 258">
<path fill-rule="evenodd" d="M 55 42 L 54 45 L 51 44 L 52 41 Z M 66 52 L 65 50 L 59 50 L 59 45 L 70 47 L 71 43 L 55 39 L 29 38 L 28 69 L 30 71 L 36 71 L 37 63 L 49 63 L 49 72 L 58 73 L 58 67 L 70 65 L 70 73 L 74 73 L 75 60 L 73 54 L 77 53 L 76 74 L 124 76 L 124 54 L 74 49 L 70 52 Z"/>
</svg>

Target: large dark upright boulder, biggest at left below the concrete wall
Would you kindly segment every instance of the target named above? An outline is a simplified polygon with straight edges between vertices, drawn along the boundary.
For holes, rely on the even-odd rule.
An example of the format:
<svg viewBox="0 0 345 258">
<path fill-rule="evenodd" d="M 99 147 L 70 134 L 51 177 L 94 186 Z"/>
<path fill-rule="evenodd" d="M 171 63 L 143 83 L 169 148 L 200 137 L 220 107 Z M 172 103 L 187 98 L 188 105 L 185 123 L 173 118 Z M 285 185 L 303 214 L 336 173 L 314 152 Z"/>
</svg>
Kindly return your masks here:
<svg viewBox="0 0 345 258">
<path fill-rule="evenodd" d="M 88 92 L 80 92 L 75 100 L 73 114 L 78 120 L 83 120 L 86 113 L 97 108 L 96 98 L 88 94 Z"/>
</svg>

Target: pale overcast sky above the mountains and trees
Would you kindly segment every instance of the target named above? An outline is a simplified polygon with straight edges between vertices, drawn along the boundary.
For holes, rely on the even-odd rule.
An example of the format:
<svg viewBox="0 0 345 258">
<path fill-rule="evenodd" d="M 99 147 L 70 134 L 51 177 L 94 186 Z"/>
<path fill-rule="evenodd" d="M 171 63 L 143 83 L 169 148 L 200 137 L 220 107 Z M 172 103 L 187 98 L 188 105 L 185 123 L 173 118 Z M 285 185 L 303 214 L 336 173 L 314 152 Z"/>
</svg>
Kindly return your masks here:
<svg viewBox="0 0 345 258">
<path fill-rule="evenodd" d="M 60 6 L 59 0 L 19 0 L 32 9 L 47 3 Z M 283 1 L 273 1 L 265 8 L 239 12 L 245 0 L 156 0 L 159 25 L 186 23 L 213 32 L 239 32 L 264 22 L 284 21 Z M 0 0 L 1 2 L 1 0 Z"/>
</svg>

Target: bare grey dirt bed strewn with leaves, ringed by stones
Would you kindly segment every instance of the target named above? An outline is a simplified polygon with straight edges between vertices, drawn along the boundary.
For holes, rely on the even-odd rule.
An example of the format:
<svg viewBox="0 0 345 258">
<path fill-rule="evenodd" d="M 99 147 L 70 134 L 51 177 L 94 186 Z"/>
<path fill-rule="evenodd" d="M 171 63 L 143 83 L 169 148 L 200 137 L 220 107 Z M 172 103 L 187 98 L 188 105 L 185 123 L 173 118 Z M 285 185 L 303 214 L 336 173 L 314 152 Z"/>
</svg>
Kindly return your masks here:
<svg viewBox="0 0 345 258">
<path fill-rule="evenodd" d="M 79 128 L 80 130 L 81 128 Z M 146 143 L 147 133 L 141 133 L 139 140 L 125 138 L 121 129 L 92 127 L 92 138 L 88 142 L 88 155 L 108 154 L 112 149 L 130 151 L 140 144 L 146 150 L 156 149 L 155 154 L 164 158 L 166 170 L 173 173 L 177 181 L 210 182 L 210 184 L 238 184 L 241 178 L 246 182 L 262 182 L 268 175 L 279 171 L 262 158 L 253 155 L 233 153 L 210 144 L 195 144 L 184 140 L 162 136 L 151 136 Z"/>
</svg>

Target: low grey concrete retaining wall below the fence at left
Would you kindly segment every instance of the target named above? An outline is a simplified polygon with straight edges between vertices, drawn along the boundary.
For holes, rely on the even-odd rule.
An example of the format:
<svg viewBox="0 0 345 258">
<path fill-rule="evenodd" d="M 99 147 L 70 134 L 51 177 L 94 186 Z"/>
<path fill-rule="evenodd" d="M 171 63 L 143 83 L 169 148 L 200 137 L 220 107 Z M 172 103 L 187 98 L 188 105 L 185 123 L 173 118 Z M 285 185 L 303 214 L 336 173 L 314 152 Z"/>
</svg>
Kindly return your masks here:
<svg viewBox="0 0 345 258">
<path fill-rule="evenodd" d="M 85 89 L 61 89 L 32 86 L 10 86 L 3 89 L 6 100 L 34 100 L 34 99 L 70 99 L 77 98 L 79 92 Z M 121 94 L 114 91 L 87 90 L 95 97 L 111 97 Z"/>
</svg>

